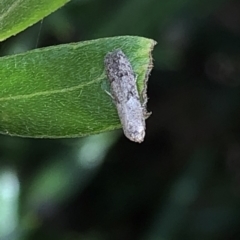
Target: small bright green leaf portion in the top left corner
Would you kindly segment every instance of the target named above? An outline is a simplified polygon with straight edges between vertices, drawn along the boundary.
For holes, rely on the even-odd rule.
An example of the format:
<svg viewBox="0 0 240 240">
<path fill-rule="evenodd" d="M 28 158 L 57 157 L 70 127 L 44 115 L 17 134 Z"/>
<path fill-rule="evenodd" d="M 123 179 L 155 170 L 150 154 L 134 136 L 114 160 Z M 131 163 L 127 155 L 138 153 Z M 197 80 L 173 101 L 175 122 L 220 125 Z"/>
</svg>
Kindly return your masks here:
<svg viewBox="0 0 240 240">
<path fill-rule="evenodd" d="M 0 41 L 16 35 L 70 0 L 2 0 Z"/>
</svg>

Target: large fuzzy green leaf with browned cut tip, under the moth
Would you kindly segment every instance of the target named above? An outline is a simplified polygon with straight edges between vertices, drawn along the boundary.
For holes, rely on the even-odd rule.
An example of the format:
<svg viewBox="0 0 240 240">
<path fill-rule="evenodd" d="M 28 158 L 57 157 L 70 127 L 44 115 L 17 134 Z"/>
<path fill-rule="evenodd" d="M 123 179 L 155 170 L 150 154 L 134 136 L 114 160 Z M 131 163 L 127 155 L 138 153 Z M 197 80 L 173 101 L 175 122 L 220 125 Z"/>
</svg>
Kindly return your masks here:
<svg viewBox="0 0 240 240">
<path fill-rule="evenodd" d="M 120 128 L 104 57 L 121 48 L 142 100 L 155 42 L 113 37 L 36 49 L 0 58 L 0 132 L 28 137 L 78 137 Z"/>
</svg>

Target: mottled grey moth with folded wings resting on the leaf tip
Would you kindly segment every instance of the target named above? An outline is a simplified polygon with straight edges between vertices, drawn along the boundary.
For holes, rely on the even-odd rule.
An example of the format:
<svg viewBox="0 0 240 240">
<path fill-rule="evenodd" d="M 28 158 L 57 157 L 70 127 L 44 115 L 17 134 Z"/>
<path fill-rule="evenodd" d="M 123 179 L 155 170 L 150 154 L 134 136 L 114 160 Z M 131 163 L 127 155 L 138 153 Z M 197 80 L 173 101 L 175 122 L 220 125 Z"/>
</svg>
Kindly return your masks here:
<svg viewBox="0 0 240 240">
<path fill-rule="evenodd" d="M 145 108 L 131 63 L 123 51 L 117 49 L 105 56 L 104 64 L 123 132 L 131 141 L 141 143 L 145 137 Z"/>
</svg>

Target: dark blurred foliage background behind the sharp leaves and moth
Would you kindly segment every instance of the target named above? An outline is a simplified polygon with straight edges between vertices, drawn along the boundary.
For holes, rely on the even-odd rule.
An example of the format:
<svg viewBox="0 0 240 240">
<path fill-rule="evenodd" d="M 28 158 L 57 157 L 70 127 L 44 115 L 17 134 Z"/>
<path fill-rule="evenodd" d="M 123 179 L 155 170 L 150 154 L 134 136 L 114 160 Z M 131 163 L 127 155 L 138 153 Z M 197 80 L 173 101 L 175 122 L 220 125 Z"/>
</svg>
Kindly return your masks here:
<svg viewBox="0 0 240 240">
<path fill-rule="evenodd" d="M 240 1 L 73 0 L 0 54 L 118 35 L 158 42 L 145 141 L 1 136 L 0 239 L 240 239 Z"/>
</svg>

